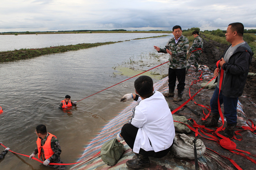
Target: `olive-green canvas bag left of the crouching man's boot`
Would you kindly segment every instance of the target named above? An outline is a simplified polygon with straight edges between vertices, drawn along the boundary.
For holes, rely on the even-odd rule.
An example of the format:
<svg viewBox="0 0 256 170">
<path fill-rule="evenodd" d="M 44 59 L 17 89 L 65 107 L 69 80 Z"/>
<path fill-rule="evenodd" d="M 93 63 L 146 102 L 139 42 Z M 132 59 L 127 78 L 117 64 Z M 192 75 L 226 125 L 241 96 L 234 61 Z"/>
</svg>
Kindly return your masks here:
<svg viewBox="0 0 256 170">
<path fill-rule="evenodd" d="M 114 166 L 124 153 L 124 145 L 116 138 L 105 142 L 100 149 L 100 158 L 107 165 Z"/>
</svg>

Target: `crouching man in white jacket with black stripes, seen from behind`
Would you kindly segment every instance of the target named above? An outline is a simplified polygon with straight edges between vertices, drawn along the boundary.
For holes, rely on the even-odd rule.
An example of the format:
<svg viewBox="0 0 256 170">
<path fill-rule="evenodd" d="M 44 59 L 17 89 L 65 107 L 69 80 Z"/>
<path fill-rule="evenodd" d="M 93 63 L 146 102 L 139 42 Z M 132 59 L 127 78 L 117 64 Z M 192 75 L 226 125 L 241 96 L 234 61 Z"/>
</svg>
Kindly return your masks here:
<svg viewBox="0 0 256 170">
<path fill-rule="evenodd" d="M 135 100 L 132 119 L 124 124 L 117 140 L 124 140 L 136 155 L 126 165 L 149 167 L 148 157 L 162 158 L 171 149 L 175 136 L 172 113 L 161 92 L 155 91 L 153 80 L 140 76 L 134 81 L 135 92 L 124 95 L 121 101 Z M 139 95 L 138 95 L 139 94 Z"/>
</svg>

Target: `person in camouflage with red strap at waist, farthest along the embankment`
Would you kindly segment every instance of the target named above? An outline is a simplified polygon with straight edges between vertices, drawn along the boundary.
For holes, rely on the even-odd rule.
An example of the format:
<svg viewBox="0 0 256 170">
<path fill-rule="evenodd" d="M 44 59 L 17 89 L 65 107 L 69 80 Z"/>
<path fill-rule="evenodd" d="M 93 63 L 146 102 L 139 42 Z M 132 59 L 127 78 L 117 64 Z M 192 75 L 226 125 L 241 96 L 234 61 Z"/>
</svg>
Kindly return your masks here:
<svg viewBox="0 0 256 170">
<path fill-rule="evenodd" d="M 188 63 L 187 63 L 186 74 L 191 65 L 194 65 L 196 67 L 196 72 L 198 72 L 198 61 L 200 59 L 200 55 L 203 53 L 202 48 L 203 48 L 204 42 L 203 42 L 203 39 L 199 36 L 199 32 L 194 31 L 192 34 L 195 39 L 187 53 L 187 55 L 190 54 L 190 57 L 189 57 Z"/>
</svg>

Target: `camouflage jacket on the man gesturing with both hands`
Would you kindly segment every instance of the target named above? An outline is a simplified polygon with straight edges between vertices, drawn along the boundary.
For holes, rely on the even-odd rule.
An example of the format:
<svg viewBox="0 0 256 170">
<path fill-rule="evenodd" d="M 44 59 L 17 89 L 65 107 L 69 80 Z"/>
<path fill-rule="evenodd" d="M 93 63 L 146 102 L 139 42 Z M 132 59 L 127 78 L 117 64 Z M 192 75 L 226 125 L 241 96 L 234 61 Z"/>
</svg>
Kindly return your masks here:
<svg viewBox="0 0 256 170">
<path fill-rule="evenodd" d="M 167 53 L 166 49 L 172 51 L 170 55 L 169 67 L 172 69 L 184 69 L 187 63 L 187 50 L 188 50 L 188 38 L 181 35 L 180 40 L 175 44 L 174 37 L 172 37 L 166 44 L 165 48 L 160 48 L 159 53 Z"/>
</svg>

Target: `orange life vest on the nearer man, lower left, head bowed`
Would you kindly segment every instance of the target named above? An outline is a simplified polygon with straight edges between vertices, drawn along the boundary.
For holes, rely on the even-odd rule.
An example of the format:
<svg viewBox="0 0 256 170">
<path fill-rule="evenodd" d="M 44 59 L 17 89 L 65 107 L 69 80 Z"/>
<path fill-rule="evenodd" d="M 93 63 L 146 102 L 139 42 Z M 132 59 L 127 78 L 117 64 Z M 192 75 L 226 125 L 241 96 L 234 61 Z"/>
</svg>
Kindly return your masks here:
<svg viewBox="0 0 256 170">
<path fill-rule="evenodd" d="M 44 143 L 44 146 L 41 146 L 41 139 L 39 137 L 37 137 L 36 144 L 37 144 L 37 150 L 38 150 L 38 159 L 40 159 L 40 156 L 42 154 L 41 153 L 41 148 L 44 149 L 44 158 L 45 159 L 48 159 L 53 155 L 54 152 L 52 151 L 52 148 L 51 148 L 51 139 L 52 139 L 52 137 L 56 137 L 56 136 L 49 133 L 49 136 L 47 137 L 47 139 Z"/>
</svg>

